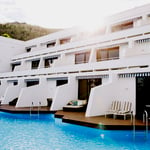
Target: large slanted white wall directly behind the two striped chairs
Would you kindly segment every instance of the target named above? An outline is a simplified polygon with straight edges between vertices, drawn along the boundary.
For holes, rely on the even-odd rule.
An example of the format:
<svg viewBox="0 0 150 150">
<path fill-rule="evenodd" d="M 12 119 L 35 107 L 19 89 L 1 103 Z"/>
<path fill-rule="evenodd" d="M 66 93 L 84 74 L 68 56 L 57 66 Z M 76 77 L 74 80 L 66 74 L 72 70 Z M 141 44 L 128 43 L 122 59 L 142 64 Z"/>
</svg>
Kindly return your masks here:
<svg viewBox="0 0 150 150">
<path fill-rule="evenodd" d="M 113 75 L 108 83 L 91 89 L 86 116 L 104 115 L 113 100 L 131 101 L 135 110 L 135 78 Z"/>
</svg>

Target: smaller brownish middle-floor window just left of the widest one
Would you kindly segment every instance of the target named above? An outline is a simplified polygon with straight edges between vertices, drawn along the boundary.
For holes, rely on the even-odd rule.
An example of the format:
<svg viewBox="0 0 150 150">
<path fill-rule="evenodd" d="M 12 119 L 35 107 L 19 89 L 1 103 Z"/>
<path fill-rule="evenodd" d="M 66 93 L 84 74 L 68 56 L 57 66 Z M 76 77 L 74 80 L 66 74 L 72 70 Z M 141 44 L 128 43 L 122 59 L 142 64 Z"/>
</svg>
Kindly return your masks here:
<svg viewBox="0 0 150 150">
<path fill-rule="evenodd" d="M 75 64 L 87 63 L 89 61 L 90 53 L 75 54 Z"/>
</svg>

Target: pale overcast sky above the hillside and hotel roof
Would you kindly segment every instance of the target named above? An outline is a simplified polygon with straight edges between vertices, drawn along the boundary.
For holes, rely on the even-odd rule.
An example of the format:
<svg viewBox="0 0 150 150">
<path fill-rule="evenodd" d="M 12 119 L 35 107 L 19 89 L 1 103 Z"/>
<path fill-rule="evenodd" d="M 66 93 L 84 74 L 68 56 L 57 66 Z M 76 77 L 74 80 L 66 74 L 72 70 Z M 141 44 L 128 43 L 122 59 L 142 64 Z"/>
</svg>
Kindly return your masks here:
<svg viewBox="0 0 150 150">
<path fill-rule="evenodd" d="M 94 27 L 107 16 L 145 4 L 150 4 L 150 0 L 0 0 L 0 23 Z"/>
</svg>

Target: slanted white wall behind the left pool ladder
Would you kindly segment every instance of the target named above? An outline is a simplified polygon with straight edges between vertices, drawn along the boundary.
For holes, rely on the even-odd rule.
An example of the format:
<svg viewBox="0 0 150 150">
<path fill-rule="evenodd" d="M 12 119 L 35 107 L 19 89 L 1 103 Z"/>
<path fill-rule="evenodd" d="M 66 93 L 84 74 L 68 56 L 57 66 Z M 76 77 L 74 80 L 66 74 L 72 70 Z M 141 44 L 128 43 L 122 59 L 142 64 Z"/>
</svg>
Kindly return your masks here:
<svg viewBox="0 0 150 150">
<path fill-rule="evenodd" d="M 22 88 L 19 94 L 16 107 L 47 106 L 47 84 L 46 79 L 41 78 L 39 85 Z"/>
</svg>

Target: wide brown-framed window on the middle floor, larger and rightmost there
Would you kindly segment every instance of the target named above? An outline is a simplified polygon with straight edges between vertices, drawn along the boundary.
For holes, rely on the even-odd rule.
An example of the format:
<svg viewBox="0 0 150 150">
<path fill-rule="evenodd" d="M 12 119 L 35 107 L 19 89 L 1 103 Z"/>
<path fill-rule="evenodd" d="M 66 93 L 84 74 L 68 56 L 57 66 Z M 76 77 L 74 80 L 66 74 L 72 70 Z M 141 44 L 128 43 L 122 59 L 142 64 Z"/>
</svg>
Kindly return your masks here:
<svg viewBox="0 0 150 150">
<path fill-rule="evenodd" d="M 99 49 L 96 55 L 97 61 L 112 60 L 119 58 L 119 47 Z"/>
</svg>

